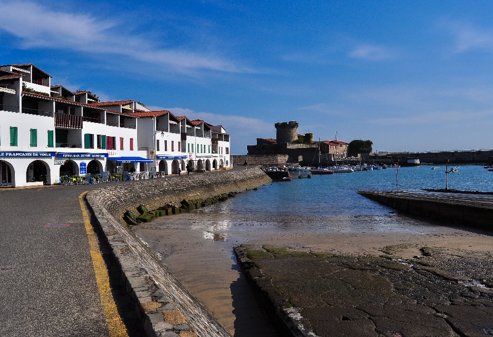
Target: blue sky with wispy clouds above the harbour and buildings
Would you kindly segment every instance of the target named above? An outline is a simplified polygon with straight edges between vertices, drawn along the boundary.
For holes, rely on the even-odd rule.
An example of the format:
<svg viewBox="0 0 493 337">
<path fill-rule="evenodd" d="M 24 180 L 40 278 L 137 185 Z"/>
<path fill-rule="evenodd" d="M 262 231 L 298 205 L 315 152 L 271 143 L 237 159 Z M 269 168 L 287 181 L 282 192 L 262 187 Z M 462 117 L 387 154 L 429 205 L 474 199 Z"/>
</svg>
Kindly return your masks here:
<svg viewBox="0 0 493 337">
<path fill-rule="evenodd" d="M 222 124 L 380 151 L 493 148 L 493 3 L 0 0 L 0 63 Z"/>
</svg>

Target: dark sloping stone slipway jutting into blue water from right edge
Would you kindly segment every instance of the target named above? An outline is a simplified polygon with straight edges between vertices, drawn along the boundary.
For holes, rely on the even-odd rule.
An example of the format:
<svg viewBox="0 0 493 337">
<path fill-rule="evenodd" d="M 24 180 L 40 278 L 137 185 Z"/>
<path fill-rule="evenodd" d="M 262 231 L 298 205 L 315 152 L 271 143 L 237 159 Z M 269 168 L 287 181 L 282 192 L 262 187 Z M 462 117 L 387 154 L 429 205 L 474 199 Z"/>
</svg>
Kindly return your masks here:
<svg viewBox="0 0 493 337">
<path fill-rule="evenodd" d="M 399 212 L 464 226 L 493 228 L 493 198 L 443 192 L 358 192 Z"/>
</svg>

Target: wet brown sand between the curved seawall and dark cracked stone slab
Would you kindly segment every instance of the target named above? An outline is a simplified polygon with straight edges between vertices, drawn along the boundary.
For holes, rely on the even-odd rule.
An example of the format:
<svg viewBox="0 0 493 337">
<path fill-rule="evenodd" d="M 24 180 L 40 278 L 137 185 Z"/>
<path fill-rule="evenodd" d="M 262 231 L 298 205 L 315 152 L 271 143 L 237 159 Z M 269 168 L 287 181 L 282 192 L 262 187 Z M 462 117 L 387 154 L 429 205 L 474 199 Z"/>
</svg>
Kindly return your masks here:
<svg viewBox="0 0 493 337">
<path fill-rule="evenodd" d="M 491 253 L 493 232 L 443 226 L 406 216 L 296 216 L 196 212 L 133 228 L 183 285 L 235 336 L 273 336 L 236 264 L 240 244 L 339 254 L 420 256 L 420 247 Z"/>
</svg>

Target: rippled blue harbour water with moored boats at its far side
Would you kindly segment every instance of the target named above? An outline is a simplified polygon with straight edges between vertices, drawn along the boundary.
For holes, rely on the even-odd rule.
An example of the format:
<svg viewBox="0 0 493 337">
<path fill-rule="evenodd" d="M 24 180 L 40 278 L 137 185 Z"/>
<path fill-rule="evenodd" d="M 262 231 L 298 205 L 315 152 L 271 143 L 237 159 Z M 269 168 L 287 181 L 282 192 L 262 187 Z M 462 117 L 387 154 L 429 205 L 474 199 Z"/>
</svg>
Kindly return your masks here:
<svg viewBox="0 0 493 337">
<path fill-rule="evenodd" d="M 449 168 L 452 165 L 449 166 Z M 357 194 L 357 191 L 416 191 L 444 189 L 445 165 L 396 168 L 313 175 L 311 179 L 273 182 L 258 191 L 243 193 L 199 212 L 279 215 L 384 215 L 389 208 Z M 493 172 L 483 166 L 461 165 L 458 173 L 448 174 L 448 188 L 465 191 L 493 192 Z"/>
</svg>

